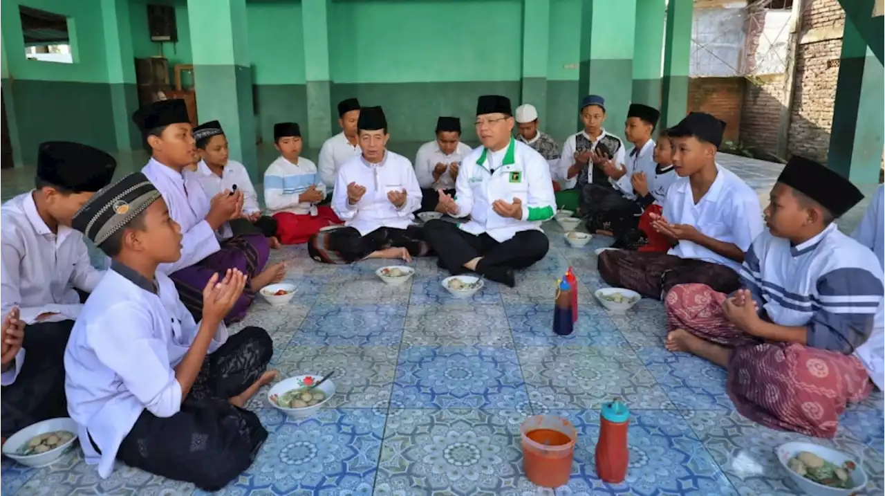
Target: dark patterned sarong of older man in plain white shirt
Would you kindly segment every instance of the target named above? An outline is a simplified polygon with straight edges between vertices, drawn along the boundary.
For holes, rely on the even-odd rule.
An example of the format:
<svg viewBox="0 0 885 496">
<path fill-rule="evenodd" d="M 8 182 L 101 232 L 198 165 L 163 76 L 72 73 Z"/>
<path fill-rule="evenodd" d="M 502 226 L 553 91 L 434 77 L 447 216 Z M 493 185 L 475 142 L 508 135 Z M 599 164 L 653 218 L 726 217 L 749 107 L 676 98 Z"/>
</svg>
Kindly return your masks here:
<svg viewBox="0 0 885 496">
<path fill-rule="evenodd" d="M 307 252 L 313 260 L 334 264 L 353 263 L 391 247 L 405 248 L 412 257 L 423 257 L 430 252 L 424 229 L 419 226 L 379 228 L 366 236 L 354 228 L 339 228 L 319 231 L 307 242 Z"/>
</svg>

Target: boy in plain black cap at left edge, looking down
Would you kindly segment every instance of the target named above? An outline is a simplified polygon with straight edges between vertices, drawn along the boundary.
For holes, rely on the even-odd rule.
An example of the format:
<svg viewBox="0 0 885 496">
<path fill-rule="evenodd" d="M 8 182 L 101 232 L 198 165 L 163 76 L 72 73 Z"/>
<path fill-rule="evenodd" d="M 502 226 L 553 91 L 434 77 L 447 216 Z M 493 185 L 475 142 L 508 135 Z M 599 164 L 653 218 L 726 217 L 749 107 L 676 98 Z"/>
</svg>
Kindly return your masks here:
<svg viewBox="0 0 885 496">
<path fill-rule="evenodd" d="M 0 206 L 0 438 L 65 416 L 62 357 L 82 308 L 78 290 L 92 292 L 104 276 L 71 219 L 116 167 L 85 144 L 42 143 L 35 190 Z"/>
</svg>

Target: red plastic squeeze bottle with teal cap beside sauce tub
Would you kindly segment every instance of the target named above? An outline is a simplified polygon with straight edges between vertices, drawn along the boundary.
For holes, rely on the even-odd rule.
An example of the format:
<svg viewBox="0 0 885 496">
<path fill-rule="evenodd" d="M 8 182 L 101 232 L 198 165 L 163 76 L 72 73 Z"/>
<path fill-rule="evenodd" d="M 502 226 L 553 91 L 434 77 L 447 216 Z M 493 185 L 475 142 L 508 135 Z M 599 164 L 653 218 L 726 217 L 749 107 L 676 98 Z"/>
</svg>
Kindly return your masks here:
<svg viewBox="0 0 885 496">
<path fill-rule="evenodd" d="M 627 446 L 630 410 L 616 399 L 603 405 L 601 414 L 599 442 L 596 443 L 596 475 L 604 482 L 620 484 L 627 477 L 630 463 L 630 448 Z"/>
</svg>

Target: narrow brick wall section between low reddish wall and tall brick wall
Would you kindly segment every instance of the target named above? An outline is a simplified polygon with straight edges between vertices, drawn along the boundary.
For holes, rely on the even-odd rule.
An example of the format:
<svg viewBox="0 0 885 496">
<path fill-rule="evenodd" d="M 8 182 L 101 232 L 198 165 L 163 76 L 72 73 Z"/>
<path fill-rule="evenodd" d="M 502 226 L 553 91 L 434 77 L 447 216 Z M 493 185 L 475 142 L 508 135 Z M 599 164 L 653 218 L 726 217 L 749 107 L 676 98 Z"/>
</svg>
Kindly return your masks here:
<svg viewBox="0 0 885 496">
<path fill-rule="evenodd" d="M 757 76 L 746 81 L 741 111 L 741 141 L 777 154 L 777 135 L 784 105 L 783 74 Z"/>
</svg>

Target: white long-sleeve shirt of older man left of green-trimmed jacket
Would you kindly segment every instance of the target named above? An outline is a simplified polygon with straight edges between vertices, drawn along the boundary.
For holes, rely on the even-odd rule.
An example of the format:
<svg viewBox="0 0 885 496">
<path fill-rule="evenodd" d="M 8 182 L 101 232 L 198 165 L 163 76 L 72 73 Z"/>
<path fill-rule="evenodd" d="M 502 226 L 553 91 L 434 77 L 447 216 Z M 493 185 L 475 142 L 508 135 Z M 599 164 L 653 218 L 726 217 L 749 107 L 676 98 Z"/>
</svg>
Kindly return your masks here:
<svg viewBox="0 0 885 496">
<path fill-rule="evenodd" d="M 357 205 L 350 205 L 347 185 L 356 182 L 366 188 Z M 390 191 L 406 191 L 405 203 L 396 208 L 388 199 Z M 359 234 L 366 236 L 378 228 L 405 229 L 421 207 L 421 188 L 412 162 L 393 151 L 386 151 L 379 164 L 370 164 L 362 156 L 348 160 L 338 171 L 332 192 L 332 209 L 338 218 Z"/>
</svg>

